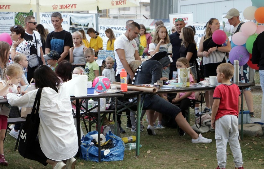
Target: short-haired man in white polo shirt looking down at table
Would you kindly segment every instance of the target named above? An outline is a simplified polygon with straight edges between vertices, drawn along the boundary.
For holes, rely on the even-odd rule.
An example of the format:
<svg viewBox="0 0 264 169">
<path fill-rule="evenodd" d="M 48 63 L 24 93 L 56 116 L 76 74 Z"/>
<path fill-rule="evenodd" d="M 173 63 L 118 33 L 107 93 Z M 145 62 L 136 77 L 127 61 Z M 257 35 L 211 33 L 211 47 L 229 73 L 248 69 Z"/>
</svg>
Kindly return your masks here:
<svg viewBox="0 0 264 169">
<path fill-rule="evenodd" d="M 134 38 L 138 37 L 140 26 L 136 22 L 128 25 L 126 32 L 118 37 L 114 42 L 115 59 L 117 62 L 117 81 L 120 82 L 120 72 L 125 69 L 130 75 L 131 80 L 134 73 L 129 67 L 129 63 L 134 60 L 140 60 L 138 47 Z"/>
</svg>

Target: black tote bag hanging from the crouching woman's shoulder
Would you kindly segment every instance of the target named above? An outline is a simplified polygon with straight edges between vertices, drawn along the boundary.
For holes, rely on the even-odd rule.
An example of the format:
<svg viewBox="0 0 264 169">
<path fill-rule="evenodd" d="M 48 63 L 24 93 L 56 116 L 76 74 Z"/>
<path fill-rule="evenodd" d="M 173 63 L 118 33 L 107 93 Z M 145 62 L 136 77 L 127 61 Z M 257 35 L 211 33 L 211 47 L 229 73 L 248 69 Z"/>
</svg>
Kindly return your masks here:
<svg viewBox="0 0 264 169">
<path fill-rule="evenodd" d="M 39 88 L 37 90 L 37 95 L 35 98 L 35 102 L 31 114 L 27 115 L 26 121 L 21 130 L 18 152 L 24 158 L 27 158 L 28 152 L 32 150 L 33 142 L 35 141 L 38 134 L 38 127 L 39 127 L 38 110 L 39 110 L 41 92 L 42 92 L 42 88 Z M 37 104 L 37 108 L 36 108 L 36 104 Z"/>
</svg>

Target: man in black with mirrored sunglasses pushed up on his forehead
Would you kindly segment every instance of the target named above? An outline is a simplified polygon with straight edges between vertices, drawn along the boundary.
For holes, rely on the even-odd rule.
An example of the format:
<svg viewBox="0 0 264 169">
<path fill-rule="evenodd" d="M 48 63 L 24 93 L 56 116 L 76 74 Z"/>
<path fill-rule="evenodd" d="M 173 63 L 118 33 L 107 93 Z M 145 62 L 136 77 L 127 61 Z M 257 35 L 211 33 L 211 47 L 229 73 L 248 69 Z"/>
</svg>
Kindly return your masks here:
<svg viewBox="0 0 264 169">
<path fill-rule="evenodd" d="M 176 27 L 176 32 L 169 35 L 170 43 L 172 45 L 172 60 L 169 67 L 169 79 L 172 79 L 173 71 L 177 71 L 176 61 L 180 57 L 180 47 L 182 43 L 182 39 L 180 39 L 180 33 L 182 32 L 182 28 L 185 27 L 185 22 L 182 18 L 174 19 L 174 25 Z"/>
</svg>

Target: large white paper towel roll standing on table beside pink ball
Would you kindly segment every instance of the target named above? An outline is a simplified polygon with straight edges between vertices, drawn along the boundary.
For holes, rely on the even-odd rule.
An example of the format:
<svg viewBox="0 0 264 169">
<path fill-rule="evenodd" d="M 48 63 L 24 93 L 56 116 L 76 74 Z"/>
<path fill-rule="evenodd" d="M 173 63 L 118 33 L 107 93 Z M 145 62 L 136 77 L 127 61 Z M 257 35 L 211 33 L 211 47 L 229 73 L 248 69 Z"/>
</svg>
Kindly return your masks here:
<svg viewBox="0 0 264 169">
<path fill-rule="evenodd" d="M 63 83 L 66 86 L 69 94 L 75 97 L 87 95 L 87 75 L 73 75 L 72 80 Z"/>
</svg>

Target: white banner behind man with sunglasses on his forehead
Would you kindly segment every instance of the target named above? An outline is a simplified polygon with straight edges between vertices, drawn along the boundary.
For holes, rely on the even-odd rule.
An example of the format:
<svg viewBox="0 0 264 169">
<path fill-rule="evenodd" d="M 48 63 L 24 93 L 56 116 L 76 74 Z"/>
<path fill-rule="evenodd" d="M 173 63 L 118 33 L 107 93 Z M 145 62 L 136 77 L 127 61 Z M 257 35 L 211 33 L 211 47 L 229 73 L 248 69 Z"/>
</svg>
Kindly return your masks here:
<svg viewBox="0 0 264 169">
<path fill-rule="evenodd" d="M 192 13 L 178 13 L 178 14 L 169 14 L 169 25 L 172 28 L 174 26 L 175 19 L 182 18 L 186 26 L 193 26 L 193 14 Z"/>
</svg>

